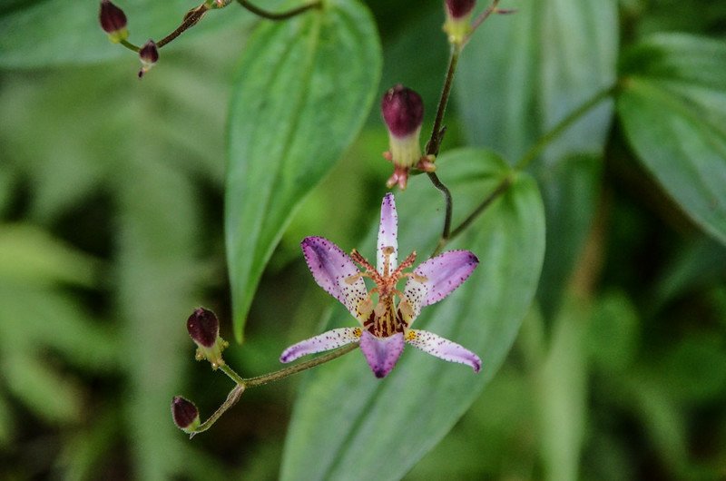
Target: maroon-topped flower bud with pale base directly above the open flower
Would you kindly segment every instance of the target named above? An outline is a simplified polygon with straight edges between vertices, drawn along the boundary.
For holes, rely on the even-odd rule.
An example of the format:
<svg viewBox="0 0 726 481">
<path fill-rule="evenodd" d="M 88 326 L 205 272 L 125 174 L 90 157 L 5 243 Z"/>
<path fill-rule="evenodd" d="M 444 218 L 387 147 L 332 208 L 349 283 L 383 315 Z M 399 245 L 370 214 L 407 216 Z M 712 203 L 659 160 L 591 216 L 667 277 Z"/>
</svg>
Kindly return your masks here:
<svg viewBox="0 0 726 481">
<path fill-rule="evenodd" d="M 383 156 L 394 165 L 393 175 L 387 185 L 390 188 L 398 184 L 401 189 L 406 189 L 411 167 L 428 172 L 434 167 L 432 162 L 421 155 L 419 137 L 424 121 L 424 102 L 418 93 L 398 84 L 383 96 L 380 110 L 388 125 L 390 149 Z"/>
</svg>

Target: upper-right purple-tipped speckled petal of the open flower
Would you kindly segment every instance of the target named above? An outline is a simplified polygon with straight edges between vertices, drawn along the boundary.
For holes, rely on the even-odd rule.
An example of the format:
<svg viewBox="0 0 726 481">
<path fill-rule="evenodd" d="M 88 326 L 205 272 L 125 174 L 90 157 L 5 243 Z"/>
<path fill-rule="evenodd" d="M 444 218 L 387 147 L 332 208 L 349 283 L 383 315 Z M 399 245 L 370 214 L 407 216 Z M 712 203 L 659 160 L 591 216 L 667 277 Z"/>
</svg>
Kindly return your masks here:
<svg viewBox="0 0 726 481">
<path fill-rule="evenodd" d="M 468 250 L 449 250 L 419 265 L 414 273 L 425 281 L 409 278 L 404 297 L 413 309 L 413 319 L 421 308 L 446 298 L 461 285 L 478 265 L 479 260 Z"/>
</svg>

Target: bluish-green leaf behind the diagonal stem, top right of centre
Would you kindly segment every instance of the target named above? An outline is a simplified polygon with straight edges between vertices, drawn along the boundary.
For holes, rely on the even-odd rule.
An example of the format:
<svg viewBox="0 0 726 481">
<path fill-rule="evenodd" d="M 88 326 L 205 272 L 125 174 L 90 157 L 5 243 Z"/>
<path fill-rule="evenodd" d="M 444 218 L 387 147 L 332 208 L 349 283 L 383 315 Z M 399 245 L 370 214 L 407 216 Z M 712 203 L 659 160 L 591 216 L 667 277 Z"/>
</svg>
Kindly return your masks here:
<svg viewBox="0 0 726 481">
<path fill-rule="evenodd" d="M 568 113 L 614 83 L 617 2 L 521 0 L 502 6 L 517 12 L 494 15 L 476 31 L 462 54 L 455 93 L 469 141 L 515 162 Z M 535 169 L 549 230 L 538 294 L 548 318 L 592 224 L 596 163 L 612 116 L 611 103 L 586 113 L 548 145 Z"/>
</svg>

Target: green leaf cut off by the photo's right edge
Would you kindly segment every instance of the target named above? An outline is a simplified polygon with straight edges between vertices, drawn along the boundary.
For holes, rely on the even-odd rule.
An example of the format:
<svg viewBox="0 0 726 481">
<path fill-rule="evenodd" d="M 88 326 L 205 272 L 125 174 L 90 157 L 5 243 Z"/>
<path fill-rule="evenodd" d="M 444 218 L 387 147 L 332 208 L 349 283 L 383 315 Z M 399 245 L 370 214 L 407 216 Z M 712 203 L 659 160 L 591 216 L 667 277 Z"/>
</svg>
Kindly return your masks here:
<svg viewBox="0 0 726 481">
<path fill-rule="evenodd" d="M 653 36 L 624 57 L 628 76 L 617 104 L 641 162 L 721 243 L 726 243 L 724 62 L 721 42 L 683 34 Z"/>
</svg>

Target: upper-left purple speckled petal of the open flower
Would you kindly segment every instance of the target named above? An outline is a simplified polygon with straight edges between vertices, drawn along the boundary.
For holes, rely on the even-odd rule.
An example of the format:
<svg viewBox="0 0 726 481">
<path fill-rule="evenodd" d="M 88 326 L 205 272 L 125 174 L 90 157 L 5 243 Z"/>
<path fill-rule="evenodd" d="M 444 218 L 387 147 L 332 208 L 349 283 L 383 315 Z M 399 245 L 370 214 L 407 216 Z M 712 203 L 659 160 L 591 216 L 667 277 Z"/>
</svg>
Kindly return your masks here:
<svg viewBox="0 0 726 481">
<path fill-rule="evenodd" d="M 342 302 L 356 319 L 360 319 L 362 315 L 358 306 L 361 300 L 368 297 L 368 291 L 360 277 L 353 282 L 347 281 L 360 273 L 353 260 L 324 237 L 306 237 L 300 246 L 318 285 Z"/>
</svg>

